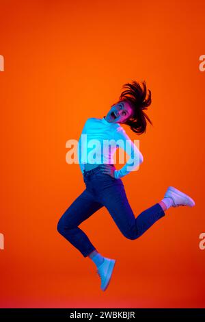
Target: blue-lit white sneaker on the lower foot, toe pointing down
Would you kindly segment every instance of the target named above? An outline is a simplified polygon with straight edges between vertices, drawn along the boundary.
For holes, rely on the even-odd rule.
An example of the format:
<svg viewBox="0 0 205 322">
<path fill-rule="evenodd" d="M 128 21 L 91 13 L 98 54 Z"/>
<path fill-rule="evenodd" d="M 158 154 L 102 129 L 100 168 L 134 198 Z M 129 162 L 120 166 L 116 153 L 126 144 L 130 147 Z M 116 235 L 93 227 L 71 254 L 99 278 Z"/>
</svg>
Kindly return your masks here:
<svg viewBox="0 0 205 322">
<path fill-rule="evenodd" d="M 104 258 L 104 262 L 98 267 L 97 274 L 100 276 L 101 279 L 101 286 L 102 290 L 106 290 L 109 282 L 111 280 L 111 275 L 113 273 L 113 268 L 115 266 L 115 260 L 111 260 L 109 258 Z"/>
</svg>

